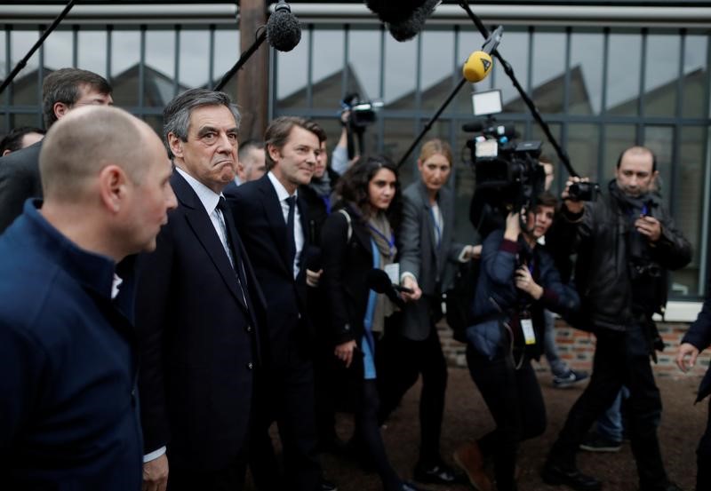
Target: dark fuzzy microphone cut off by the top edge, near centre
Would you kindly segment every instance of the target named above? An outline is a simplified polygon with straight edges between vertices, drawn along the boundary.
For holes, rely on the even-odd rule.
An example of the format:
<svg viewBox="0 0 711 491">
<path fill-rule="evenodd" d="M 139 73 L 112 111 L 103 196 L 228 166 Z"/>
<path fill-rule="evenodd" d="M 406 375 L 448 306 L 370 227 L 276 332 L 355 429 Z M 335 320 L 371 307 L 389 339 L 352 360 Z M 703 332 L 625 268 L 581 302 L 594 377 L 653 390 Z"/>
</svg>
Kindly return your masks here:
<svg viewBox="0 0 711 491">
<path fill-rule="evenodd" d="M 425 28 L 441 0 L 366 0 L 365 4 L 387 25 L 395 41 L 408 41 Z"/>
</svg>

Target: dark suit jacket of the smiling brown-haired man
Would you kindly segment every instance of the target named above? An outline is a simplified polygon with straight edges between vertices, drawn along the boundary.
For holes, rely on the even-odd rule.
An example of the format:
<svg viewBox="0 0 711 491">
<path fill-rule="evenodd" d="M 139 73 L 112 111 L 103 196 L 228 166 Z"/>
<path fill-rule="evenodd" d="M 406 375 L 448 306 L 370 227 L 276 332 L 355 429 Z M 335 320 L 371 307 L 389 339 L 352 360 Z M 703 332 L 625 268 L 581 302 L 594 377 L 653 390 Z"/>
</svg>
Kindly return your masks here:
<svg viewBox="0 0 711 491">
<path fill-rule="evenodd" d="M 281 203 L 268 175 L 238 186 L 225 194 L 235 217 L 237 230 L 247 249 L 254 273 L 267 297 L 270 360 L 279 367 L 289 360 L 287 353 L 296 348 L 309 352 L 312 329 L 307 315 L 306 266 L 301 261 L 300 274 L 294 280 L 286 249 L 286 222 Z M 297 200 L 304 248 L 308 249 L 307 207 Z"/>
</svg>

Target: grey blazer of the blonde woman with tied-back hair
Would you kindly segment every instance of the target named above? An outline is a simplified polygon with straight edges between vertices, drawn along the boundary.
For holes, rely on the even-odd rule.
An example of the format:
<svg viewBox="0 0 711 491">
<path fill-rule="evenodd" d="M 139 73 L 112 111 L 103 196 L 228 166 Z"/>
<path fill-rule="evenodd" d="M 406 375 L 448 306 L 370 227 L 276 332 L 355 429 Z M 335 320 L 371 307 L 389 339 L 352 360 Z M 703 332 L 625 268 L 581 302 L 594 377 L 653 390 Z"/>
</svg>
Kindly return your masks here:
<svg viewBox="0 0 711 491">
<path fill-rule="evenodd" d="M 453 242 L 454 197 L 449 189 L 440 189 L 437 205 L 443 218 L 439 248 L 436 246 L 434 219 L 424 183 L 418 179 L 403 191 L 403 223 L 397 237 L 400 271 L 415 275 L 423 297 L 405 305 L 402 333 L 404 337 L 416 341 L 427 339 L 431 329 L 430 304 L 439 302 L 440 293 L 451 288 L 453 265 L 464 248 L 462 244 Z"/>
</svg>

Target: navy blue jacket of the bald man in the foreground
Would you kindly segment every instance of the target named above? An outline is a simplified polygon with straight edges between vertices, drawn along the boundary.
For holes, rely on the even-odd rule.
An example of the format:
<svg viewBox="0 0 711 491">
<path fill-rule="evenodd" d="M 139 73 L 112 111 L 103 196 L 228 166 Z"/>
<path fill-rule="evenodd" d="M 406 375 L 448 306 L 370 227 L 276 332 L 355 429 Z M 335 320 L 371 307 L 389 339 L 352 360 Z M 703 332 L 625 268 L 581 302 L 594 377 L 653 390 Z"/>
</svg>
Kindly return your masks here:
<svg viewBox="0 0 711 491">
<path fill-rule="evenodd" d="M 135 335 L 130 305 L 111 300 L 114 271 L 36 202 L 0 236 L 4 488 L 140 489 Z"/>
</svg>

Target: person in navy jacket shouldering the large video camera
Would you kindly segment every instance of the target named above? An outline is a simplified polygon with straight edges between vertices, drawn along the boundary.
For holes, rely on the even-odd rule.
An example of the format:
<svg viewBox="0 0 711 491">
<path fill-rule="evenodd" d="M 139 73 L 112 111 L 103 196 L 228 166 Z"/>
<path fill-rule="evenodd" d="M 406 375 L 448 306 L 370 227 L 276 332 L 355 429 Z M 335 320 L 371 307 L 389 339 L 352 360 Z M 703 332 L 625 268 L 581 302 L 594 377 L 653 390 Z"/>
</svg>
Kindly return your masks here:
<svg viewBox="0 0 711 491">
<path fill-rule="evenodd" d="M 467 329 L 467 365 L 496 428 L 476 443 L 459 447 L 455 461 L 476 489 L 489 490 L 483 455 L 493 455 L 496 487 L 515 490 L 519 442 L 546 429 L 546 409 L 531 359 L 542 351 L 543 308 L 574 310 L 579 297 L 563 284 L 553 258 L 538 240 L 553 222 L 556 200 L 540 194 L 522 217 L 507 216 L 505 230 L 491 232 L 483 243 L 481 272 Z"/>
</svg>

